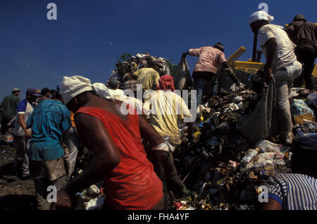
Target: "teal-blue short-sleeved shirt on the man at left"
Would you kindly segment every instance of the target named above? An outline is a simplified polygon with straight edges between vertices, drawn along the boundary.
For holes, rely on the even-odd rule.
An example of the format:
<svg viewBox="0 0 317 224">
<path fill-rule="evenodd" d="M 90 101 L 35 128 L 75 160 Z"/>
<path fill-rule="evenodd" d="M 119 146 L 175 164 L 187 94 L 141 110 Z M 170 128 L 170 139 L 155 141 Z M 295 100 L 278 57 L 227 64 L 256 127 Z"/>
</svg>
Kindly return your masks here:
<svg viewBox="0 0 317 224">
<path fill-rule="evenodd" d="M 35 161 L 51 161 L 63 157 L 62 131 L 70 128 L 70 112 L 63 103 L 44 100 L 27 120 L 32 138 L 27 155 Z"/>
</svg>

